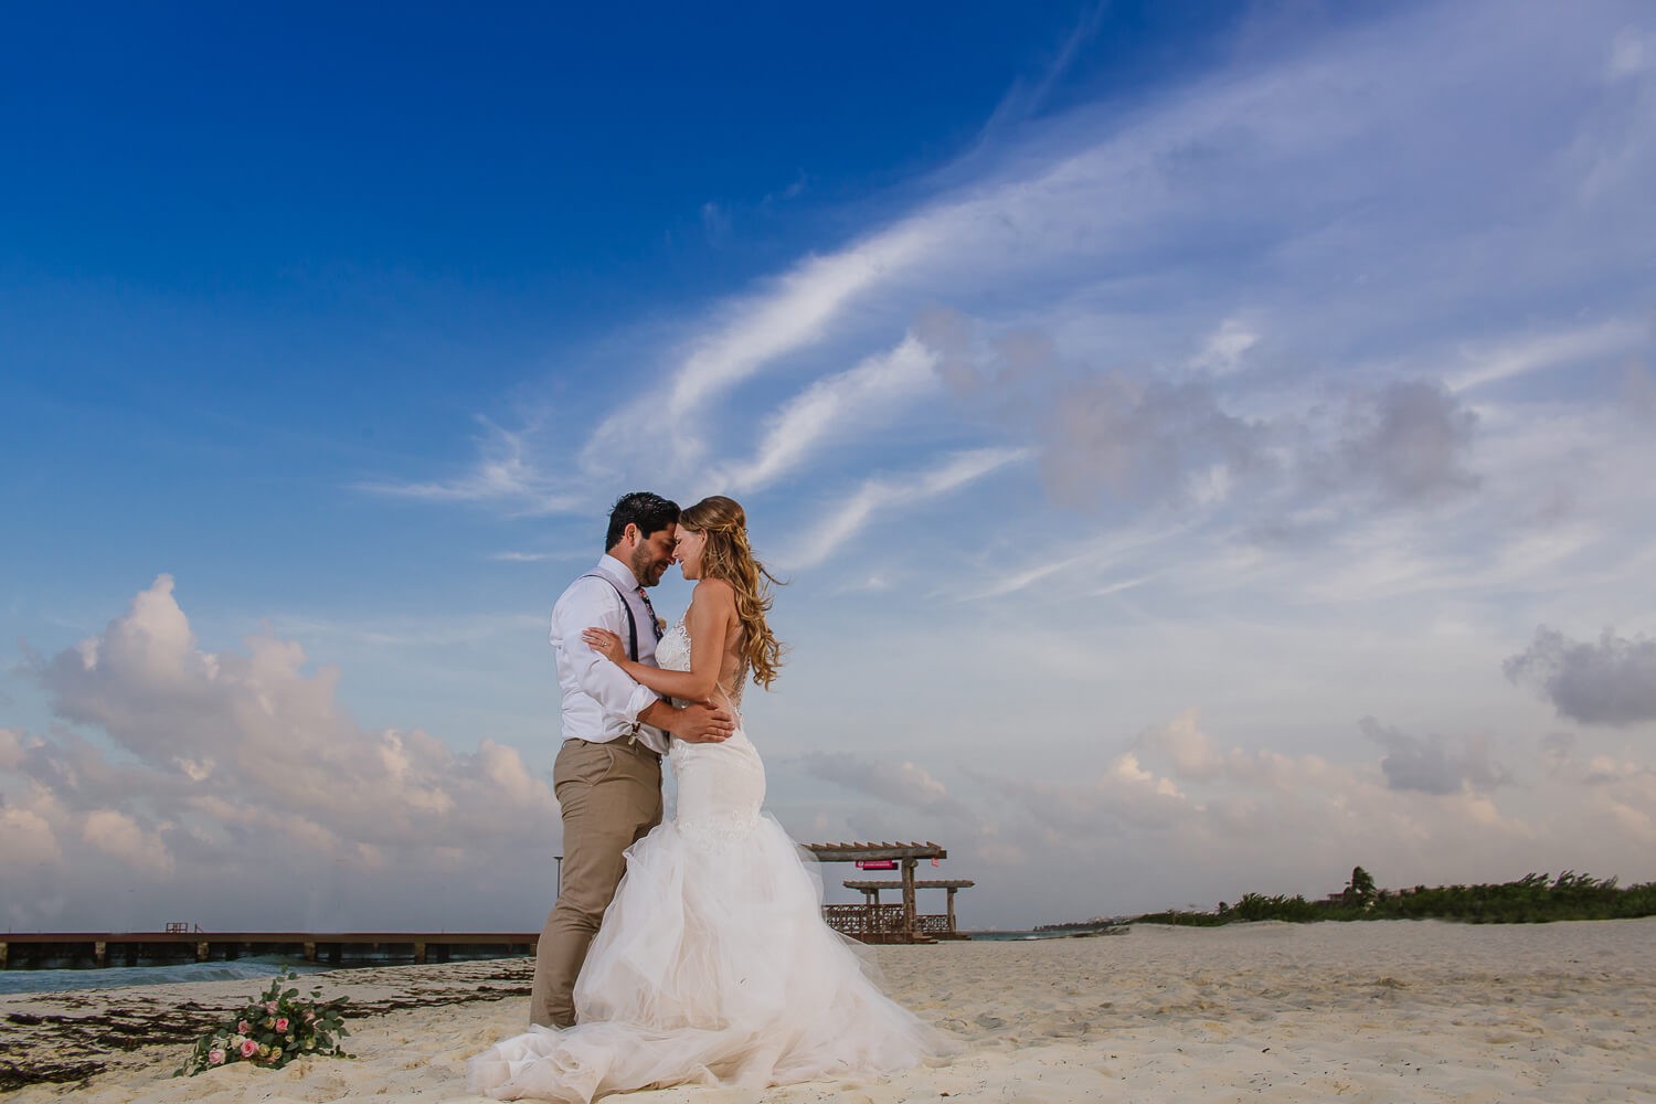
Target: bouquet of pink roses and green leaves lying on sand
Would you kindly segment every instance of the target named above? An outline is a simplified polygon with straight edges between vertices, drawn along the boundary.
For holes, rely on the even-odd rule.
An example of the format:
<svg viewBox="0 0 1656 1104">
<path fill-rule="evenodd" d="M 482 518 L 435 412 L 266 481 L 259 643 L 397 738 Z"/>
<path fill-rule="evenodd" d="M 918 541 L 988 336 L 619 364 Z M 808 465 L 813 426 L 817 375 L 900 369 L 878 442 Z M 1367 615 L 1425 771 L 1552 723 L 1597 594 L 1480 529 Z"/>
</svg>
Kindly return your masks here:
<svg viewBox="0 0 1656 1104">
<path fill-rule="evenodd" d="M 195 1076 L 204 1069 L 230 1063 L 253 1063 L 282 1069 L 295 1058 L 326 1054 L 351 1058 L 339 1046 L 349 1034 L 344 1028 L 344 1005 L 349 996 L 321 1000 L 321 986 L 311 990 L 308 1000 L 296 988 L 283 988 L 298 978 L 283 970 L 252 1005 L 232 1013 L 229 1020 L 195 1041 L 189 1059 L 179 1066 L 176 1078 Z"/>
</svg>

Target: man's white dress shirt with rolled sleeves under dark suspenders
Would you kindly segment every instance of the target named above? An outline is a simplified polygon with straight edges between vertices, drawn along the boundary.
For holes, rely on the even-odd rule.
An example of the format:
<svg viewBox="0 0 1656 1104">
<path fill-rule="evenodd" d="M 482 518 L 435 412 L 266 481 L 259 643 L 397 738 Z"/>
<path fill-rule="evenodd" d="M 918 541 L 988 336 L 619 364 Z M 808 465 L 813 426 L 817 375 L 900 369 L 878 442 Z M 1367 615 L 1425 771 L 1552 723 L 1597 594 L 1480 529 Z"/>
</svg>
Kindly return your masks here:
<svg viewBox="0 0 1656 1104">
<path fill-rule="evenodd" d="M 636 735 L 651 751 L 666 755 L 667 735 L 638 720 L 659 695 L 628 679 L 581 639 L 583 631 L 598 626 L 619 636 L 621 649 L 626 650 L 629 639 L 626 614 L 621 612 L 624 601 L 638 626 L 638 662 L 654 667 L 654 619 L 638 593 L 638 579 L 624 563 L 604 554 L 593 571 L 613 579 L 614 586 L 606 579 L 581 576 L 551 607 L 551 647 L 558 657 L 558 687 L 563 690 L 563 738 L 608 743 Z"/>
</svg>

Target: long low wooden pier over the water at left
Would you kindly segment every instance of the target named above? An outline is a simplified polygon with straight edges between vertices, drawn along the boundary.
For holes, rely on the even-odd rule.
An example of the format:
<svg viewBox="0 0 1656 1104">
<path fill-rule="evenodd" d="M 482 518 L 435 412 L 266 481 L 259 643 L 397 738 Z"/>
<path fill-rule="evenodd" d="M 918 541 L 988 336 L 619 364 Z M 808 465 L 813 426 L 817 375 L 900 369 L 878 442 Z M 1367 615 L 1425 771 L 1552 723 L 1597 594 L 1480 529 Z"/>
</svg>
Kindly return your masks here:
<svg viewBox="0 0 1656 1104">
<path fill-rule="evenodd" d="M 154 967 L 258 955 L 303 962 L 450 962 L 533 955 L 540 932 L 0 932 L 0 970 Z"/>
</svg>

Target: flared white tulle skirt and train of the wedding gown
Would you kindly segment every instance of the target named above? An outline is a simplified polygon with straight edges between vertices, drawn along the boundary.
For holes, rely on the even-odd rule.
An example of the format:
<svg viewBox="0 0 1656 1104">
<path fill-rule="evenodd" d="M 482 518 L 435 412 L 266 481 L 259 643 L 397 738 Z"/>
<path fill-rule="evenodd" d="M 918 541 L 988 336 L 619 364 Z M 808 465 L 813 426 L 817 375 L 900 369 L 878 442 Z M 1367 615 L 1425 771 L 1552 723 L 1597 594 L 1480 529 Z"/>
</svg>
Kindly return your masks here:
<svg viewBox="0 0 1656 1104">
<path fill-rule="evenodd" d="M 946 1053 L 820 902 L 815 864 L 768 814 L 656 828 L 628 851 L 576 982 L 580 1023 L 479 1054 L 472 1091 L 586 1104 L 669 1084 L 869 1078 Z"/>
</svg>

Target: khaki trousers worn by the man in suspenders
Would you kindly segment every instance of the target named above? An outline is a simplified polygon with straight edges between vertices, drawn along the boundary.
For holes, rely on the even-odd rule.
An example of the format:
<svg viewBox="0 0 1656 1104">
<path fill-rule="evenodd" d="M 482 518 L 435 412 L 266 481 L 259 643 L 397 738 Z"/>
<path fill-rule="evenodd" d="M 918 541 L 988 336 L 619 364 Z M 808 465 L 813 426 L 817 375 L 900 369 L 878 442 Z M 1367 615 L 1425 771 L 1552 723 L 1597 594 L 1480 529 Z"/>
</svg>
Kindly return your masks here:
<svg viewBox="0 0 1656 1104">
<path fill-rule="evenodd" d="M 565 740 L 551 770 L 563 811 L 563 884 L 535 952 L 528 1018 L 575 1025 L 575 978 L 626 869 L 623 851 L 661 823 L 661 756 L 626 737 Z"/>
</svg>

